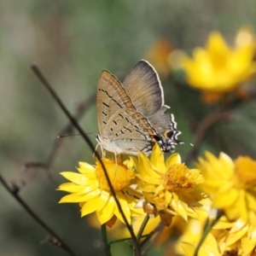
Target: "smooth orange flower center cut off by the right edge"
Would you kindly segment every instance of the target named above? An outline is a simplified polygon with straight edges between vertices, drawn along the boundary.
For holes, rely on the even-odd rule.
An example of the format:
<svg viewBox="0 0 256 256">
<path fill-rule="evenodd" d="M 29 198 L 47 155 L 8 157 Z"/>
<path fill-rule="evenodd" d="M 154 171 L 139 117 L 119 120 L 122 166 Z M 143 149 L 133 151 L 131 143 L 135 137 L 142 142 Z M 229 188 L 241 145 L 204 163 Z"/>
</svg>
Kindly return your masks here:
<svg viewBox="0 0 256 256">
<path fill-rule="evenodd" d="M 235 172 L 240 182 L 247 185 L 256 184 L 256 161 L 250 157 L 238 157 L 235 160 Z"/>
</svg>

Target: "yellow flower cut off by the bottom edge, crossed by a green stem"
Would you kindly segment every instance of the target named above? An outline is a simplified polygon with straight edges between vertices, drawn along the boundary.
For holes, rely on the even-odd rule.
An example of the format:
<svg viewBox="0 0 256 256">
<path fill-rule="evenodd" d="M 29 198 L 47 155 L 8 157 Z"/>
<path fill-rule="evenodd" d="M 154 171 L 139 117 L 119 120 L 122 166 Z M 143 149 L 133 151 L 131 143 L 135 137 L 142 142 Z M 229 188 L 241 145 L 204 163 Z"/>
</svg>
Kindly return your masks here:
<svg viewBox="0 0 256 256">
<path fill-rule="evenodd" d="M 209 218 L 209 224 L 211 219 Z M 178 255 L 194 255 L 195 247 L 201 240 L 205 229 L 205 220 L 206 218 L 204 217 L 199 220 L 189 220 L 185 232 L 176 245 Z M 256 241 L 255 235 L 255 230 L 249 235 L 248 225 L 242 222 L 241 219 L 234 223 L 222 216 L 218 223 L 213 226 L 205 241 L 203 241 L 198 255 L 253 256 L 254 254 L 252 253 Z"/>
</svg>

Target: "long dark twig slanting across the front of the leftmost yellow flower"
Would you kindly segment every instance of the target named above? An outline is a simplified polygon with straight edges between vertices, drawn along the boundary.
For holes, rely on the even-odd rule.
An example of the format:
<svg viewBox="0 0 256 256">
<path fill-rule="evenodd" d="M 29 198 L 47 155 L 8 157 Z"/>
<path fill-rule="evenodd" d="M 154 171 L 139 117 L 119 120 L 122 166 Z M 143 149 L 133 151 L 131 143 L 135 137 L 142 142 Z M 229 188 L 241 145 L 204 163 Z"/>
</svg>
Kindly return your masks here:
<svg viewBox="0 0 256 256">
<path fill-rule="evenodd" d="M 131 239 L 132 239 L 133 244 L 134 244 L 134 251 L 135 251 L 137 256 L 141 256 L 140 247 L 139 247 L 139 244 L 137 242 L 136 236 L 135 236 L 135 234 L 134 234 L 134 232 L 133 232 L 133 230 L 131 228 L 131 225 L 128 223 L 127 218 L 125 217 L 125 213 L 122 210 L 122 207 L 121 207 L 121 205 L 119 203 L 119 200 L 118 200 L 117 196 L 115 195 L 112 183 L 110 181 L 110 178 L 108 177 L 108 172 L 107 172 L 106 167 L 104 166 L 104 164 L 102 162 L 100 154 L 98 154 L 98 152 L 95 151 L 95 147 L 94 147 L 93 143 L 91 143 L 90 138 L 85 134 L 84 130 L 81 128 L 81 126 L 79 125 L 77 120 L 74 119 L 73 115 L 71 113 L 69 113 L 69 111 L 67 110 L 66 106 L 61 101 L 61 98 L 56 94 L 55 90 L 53 90 L 53 88 L 50 86 L 49 82 L 44 78 L 44 75 L 43 75 L 43 73 L 41 73 L 41 71 L 39 70 L 38 66 L 36 64 L 32 64 L 31 68 L 32 68 L 33 73 L 39 79 L 39 81 L 49 91 L 49 94 L 55 99 L 55 102 L 57 102 L 57 104 L 59 105 L 61 110 L 67 115 L 67 118 L 72 122 L 73 126 L 75 126 L 76 129 L 79 131 L 81 136 L 84 138 L 84 141 L 89 145 L 91 151 L 95 152 L 97 160 L 102 165 L 102 169 L 103 169 L 103 171 L 105 173 L 105 177 L 106 177 L 106 179 L 108 181 L 109 189 L 111 191 L 111 194 L 113 195 L 113 199 L 116 202 L 117 207 L 119 209 L 119 212 L 120 212 L 122 218 L 125 221 L 125 225 L 126 225 L 127 229 L 130 232 Z"/>
</svg>

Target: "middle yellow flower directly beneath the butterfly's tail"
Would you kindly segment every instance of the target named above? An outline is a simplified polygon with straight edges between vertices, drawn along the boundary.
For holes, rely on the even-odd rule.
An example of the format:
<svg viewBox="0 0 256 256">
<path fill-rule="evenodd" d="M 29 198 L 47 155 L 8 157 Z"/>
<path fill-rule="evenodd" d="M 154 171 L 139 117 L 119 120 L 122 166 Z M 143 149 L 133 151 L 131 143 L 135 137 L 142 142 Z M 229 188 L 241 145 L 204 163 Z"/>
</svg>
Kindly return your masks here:
<svg viewBox="0 0 256 256">
<path fill-rule="evenodd" d="M 179 154 L 172 154 L 165 162 L 159 146 L 153 149 L 150 159 L 140 153 L 138 160 L 132 157 L 137 169 L 137 189 L 143 191 L 146 202 L 153 204 L 164 224 L 171 224 L 172 216 L 197 218 L 197 209 L 204 198 L 198 184 L 201 174 L 181 162 Z M 169 217 L 168 217 L 169 214 Z"/>
</svg>

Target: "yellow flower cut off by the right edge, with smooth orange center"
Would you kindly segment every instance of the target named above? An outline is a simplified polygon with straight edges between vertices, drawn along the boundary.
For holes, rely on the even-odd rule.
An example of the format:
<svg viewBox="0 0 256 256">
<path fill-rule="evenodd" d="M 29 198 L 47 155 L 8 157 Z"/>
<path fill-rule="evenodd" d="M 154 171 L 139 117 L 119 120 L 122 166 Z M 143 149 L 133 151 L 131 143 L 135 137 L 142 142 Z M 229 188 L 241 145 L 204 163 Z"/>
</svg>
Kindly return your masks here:
<svg viewBox="0 0 256 256">
<path fill-rule="evenodd" d="M 201 170 L 205 182 L 203 189 L 212 198 L 212 207 L 218 208 L 230 220 L 241 218 L 256 228 L 256 161 L 249 157 L 231 160 L 221 153 L 216 158 L 206 152 L 195 165 Z"/>
</svg>

